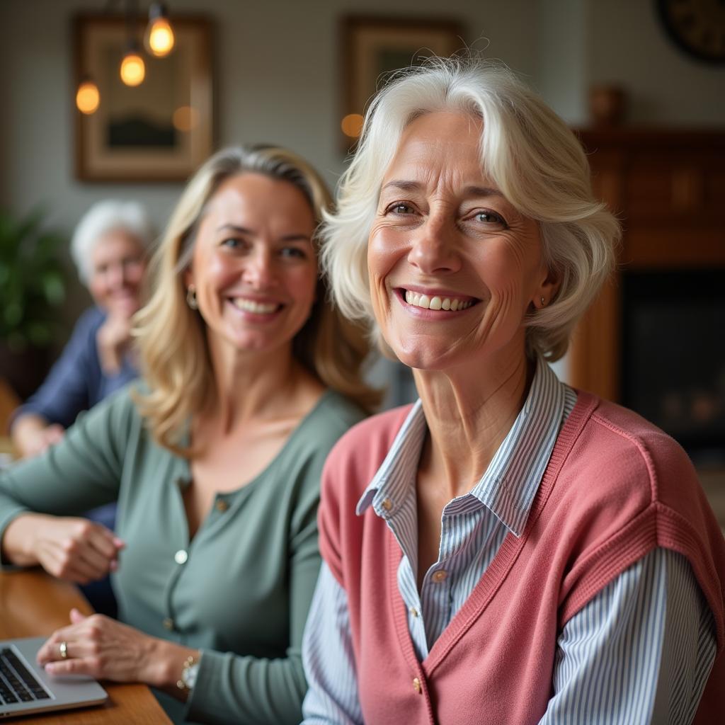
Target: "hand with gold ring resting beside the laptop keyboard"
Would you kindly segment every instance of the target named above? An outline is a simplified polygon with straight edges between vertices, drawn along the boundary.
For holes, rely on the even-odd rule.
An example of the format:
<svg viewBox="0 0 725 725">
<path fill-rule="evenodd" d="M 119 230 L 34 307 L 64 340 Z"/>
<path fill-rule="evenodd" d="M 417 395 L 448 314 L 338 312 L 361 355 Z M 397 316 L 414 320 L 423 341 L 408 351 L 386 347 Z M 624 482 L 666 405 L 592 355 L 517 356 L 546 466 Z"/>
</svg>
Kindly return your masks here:
<svg viewBox="0 0 725 725">
<path fill-rule="evenodd" d="M 70 621 L 70 626 L 55 631 L 38 651 L 38 663 L 47 672 L 157 684 L 156 639 L 102 614 L 84 617 L 72 609 Z M 61 642 L 65 642 L 65 658 Z"/>
</svg>

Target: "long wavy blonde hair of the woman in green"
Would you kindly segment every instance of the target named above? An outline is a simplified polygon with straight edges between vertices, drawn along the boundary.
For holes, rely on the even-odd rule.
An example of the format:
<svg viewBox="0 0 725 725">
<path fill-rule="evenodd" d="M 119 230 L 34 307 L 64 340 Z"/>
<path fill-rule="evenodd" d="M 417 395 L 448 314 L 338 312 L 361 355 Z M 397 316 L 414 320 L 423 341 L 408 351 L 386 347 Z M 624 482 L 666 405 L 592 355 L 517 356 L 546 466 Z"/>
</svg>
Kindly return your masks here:
<svg viewBox="0 0 725 725">
<path fill-rule="evenodd" d="M 134 318 L 141 374 L 148 386 L 136 392 L 136 405 L 154 439 L 188 457 L 194 451 L 181 447 L 181 434 L 190 416 L 216 392 L 204 320 L 186 303 L 183 272 L 191 262 L 207 202 L 224 181 L 244 173 L 294 184 L 317 222 L 331 207 L 331 196 L 318 173 L 302 157 L 276 146 L 223 149 L 188 182 L 152 260 L 152 297 Z M 316 236 L 313 241 L 317 247 Z M 380 394 L 361 377 L 368 351 L 362 329 L 331 306 L 326 281 L 320 276 L 317 299 L 294 338 L 293 354 L 320 382 L 370 410 Z"/>
</svg>

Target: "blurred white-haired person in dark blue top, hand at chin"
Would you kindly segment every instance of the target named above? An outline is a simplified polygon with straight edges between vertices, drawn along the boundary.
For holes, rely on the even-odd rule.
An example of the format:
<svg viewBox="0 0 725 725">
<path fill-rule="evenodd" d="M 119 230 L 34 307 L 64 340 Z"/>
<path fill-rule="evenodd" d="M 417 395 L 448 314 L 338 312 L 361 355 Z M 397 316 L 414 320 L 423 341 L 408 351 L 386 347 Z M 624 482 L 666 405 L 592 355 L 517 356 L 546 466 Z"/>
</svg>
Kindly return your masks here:
<svg viewBox="0 0 725 725">
<path fill-rule="evenodd" d="M 13 414 L 10 434 L 20 455 L 58 442 L 81 410 L 138 375 L 130 318 L 141 307 L 153 236 L 141 204 L 114 199 L 94 204 L 75 228 L 70 251 L 95 306 L 81 315 L 38 391 Z"/>
</svg>

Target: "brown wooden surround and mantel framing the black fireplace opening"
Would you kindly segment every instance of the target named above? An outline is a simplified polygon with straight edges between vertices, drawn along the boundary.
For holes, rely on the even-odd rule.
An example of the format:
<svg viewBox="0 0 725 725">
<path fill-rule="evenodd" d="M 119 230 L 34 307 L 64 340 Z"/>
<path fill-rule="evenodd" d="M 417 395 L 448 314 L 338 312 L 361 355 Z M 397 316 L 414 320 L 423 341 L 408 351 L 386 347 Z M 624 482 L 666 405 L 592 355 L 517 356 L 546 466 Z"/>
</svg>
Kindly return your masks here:
<svg viewBox="0 0 725 725">
<path fill-rule="evenodd" d="M 725 130 L 580 130 L 595 193 L 622 223 L 618 268 L 579 323 L 569 355 L 576 387 L 621 397 L 621 275 L 724 270 Z M 725 334 L 723 328 L 713 334 Z"/>
</svg>

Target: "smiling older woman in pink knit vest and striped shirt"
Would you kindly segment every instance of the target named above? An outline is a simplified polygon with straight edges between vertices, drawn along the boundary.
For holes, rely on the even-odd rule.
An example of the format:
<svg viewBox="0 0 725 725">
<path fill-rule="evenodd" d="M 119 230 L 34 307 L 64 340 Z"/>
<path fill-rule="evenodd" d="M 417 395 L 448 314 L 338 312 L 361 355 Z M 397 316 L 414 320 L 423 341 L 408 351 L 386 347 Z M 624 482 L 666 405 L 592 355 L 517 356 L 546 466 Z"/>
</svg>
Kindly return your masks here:
<svg viewBox="0 0 725 725">
<path fill-rule="evenodd" d="M 618 237 L 571 131 L 508 70 L 405 72 L 325 235 L 420 400 L 326 464 L 305 723 L 715 722 L 725 542 L 692 465 L 546 363 Z"/>
</svg>

